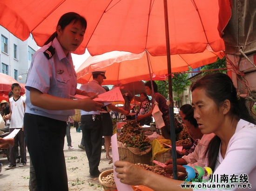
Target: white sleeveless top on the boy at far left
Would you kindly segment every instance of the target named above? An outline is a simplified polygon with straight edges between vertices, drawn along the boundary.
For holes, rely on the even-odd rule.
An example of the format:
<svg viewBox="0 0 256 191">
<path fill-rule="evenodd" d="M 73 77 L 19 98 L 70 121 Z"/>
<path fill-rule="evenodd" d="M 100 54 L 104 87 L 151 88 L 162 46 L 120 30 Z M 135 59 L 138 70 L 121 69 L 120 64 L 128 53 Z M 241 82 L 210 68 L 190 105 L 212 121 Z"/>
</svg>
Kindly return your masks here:
<svg viewBox="0 0 256 191">
<path fill-rule="evenodd" d="M 12 109 L 12 116 L 9 128 L 22 128 L 25 113 L 25 97 L 20 96 L 20 98 L 18 98 L 17 100 L 14 100 L 13 97 L 11 97 L 9 99 L 9 102 Z"/>
</svg>

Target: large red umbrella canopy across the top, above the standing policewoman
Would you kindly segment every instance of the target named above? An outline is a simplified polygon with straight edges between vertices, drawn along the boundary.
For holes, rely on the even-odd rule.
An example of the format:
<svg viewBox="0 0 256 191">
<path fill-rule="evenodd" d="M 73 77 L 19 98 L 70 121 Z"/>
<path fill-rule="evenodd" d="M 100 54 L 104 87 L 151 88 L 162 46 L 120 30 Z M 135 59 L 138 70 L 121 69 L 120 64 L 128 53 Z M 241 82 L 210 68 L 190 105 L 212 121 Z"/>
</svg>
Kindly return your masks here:
<svg viewBox="0 0 256 191">
<path fill-rule="evenodd" d="M 229 0 L 221 1 L 229 6 Z M 207 45 L 214 51 L 224 50 L 217 30 L 217 0 L 168 0 L 167 9 L 171 54 L 203 52 Z M 163 0 L 1 0 L 0 25 L 21 40 L 31 32 L 42 46 L 67 12 L 79 13 L 88 21 L 77 54 L 87 47 L 91 55 L 115 50 L 166 55 Z M 222 25 L 227 21 L 228 17 L 222 19 Z"/>
</svg>

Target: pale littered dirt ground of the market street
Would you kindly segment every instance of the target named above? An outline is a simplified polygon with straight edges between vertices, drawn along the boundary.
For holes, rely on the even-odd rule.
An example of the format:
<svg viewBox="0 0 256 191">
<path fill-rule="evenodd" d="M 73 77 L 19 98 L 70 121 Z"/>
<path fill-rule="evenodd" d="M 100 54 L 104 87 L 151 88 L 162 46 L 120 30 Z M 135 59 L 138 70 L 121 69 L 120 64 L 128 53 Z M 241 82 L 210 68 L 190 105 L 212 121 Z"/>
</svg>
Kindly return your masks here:
<svg viewBox="0 0 256 191">
<path fill-rule="evenodd" d="M 103 191 L 98 178 L 90 178 L 88 159 L 85 151 L 78 148 L 81 142 L 82 133 L 77 133 L 75 128 L 71 128 L 71 139 L 74 150 L 67 149 L 67 139 L 65 138 L 64 154 L 67 166 L 68 190 L 69 191 Z M 110 150 L 110 155 L 112 152 Z M 28 191 L 29 181 L 29 154 L 27 152 L 27 165 L 4 170 L 8 165 L 7 158 L 0 154 L 0 161 L 3 164 L 0 172 L 0 191 Z M 106 152 L 101 152 L 101 162 L 99 170 L 101 172 L 113 169 L 113 163 L 106 159 Z"/>
</svg>

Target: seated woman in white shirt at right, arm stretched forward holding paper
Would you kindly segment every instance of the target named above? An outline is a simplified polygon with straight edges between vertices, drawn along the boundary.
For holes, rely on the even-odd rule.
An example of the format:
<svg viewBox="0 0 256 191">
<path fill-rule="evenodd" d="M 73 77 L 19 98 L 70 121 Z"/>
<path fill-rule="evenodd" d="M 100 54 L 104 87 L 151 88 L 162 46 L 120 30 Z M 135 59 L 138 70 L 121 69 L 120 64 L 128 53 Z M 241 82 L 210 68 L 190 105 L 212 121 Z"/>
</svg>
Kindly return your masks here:
<svg viewBox="0 0 256 191">
<path fill-rule="evenodd" d="M 202 184 L 209 186 L 202 188 L 206 191 L 211 191 L 212 185 L 224 185 L 215 187 L 218 191 L 226 190 L 225 185 L 229 185 L 229 191 L 256 190 L 256 121 L 249 114 L 245 99 L 237 96 L 231 78 L 222 73 L 202 77 L 192 84 L 191 91 L 198 127 L 203 134 L 216 134 L 206 150 L 207 167 L 213 171 L 211 177 L 225 175 L 228 180 L 233 177 L 233 182 L 219 183 L 212 178 L 213 182 L 194 183 L 197 188 L 188 190 L 198 190 Z M 145 185 L 157 191 L 184 190 L 181 186 L 184 181 L 163 177 L 125 161 L 116 161 L 115 166 L 121 183 Z M 239 184 L 245 188 L 238 188 Z"/>
</svg>

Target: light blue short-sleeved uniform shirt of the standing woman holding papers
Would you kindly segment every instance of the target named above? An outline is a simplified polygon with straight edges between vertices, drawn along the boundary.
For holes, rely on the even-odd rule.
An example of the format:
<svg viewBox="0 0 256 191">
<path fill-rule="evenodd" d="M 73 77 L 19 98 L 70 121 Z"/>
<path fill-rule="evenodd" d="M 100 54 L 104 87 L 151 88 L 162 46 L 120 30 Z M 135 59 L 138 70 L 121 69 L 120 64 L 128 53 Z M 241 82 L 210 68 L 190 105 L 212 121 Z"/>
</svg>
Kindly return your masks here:
<svg viewBox="0 0 256 191">
<path fill-rule="evenodd" d="M 48 59 L 44 55 L 50 46 L 55 48 L 54 55 Z M 44 94 L 71 99 L 77 86 L 76 73 L 70 52 L 67 57 L 57 40 L 54 38 L 48 45 L 36 51 L 27 75 L 26 83 L 26 113 L 41 115 L 60 121 L 68 121 L 74 110 L 48 110 L 33 106 L 30 102 L 30 88 L 40 90 Z"/>
</svg>

